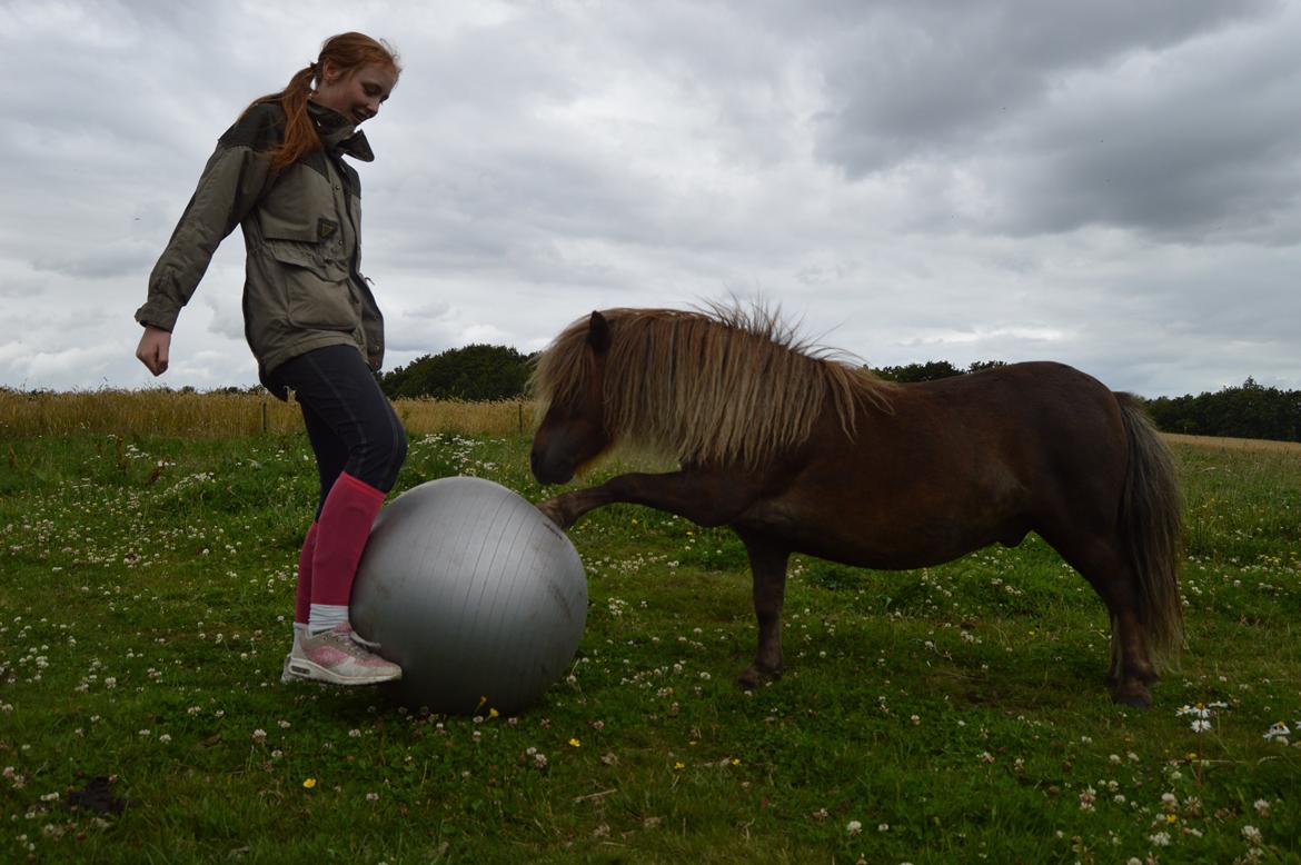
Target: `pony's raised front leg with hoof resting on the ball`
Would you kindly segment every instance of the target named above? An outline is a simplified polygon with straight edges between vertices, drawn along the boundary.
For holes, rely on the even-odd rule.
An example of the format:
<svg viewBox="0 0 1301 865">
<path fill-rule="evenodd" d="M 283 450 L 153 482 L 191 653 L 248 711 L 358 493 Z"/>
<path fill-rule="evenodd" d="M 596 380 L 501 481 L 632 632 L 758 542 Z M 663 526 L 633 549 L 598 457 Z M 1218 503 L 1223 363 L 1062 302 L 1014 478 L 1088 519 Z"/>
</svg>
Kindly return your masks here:
<svg viewBox="0 0 1301 865">
<path fill-rule="evenodd" d="M 697 526 L 725 526 L 734 522 L 757 496 L 757 484 L 692 468 L 664 475 L 619 475 L 598 486 L 561 493 L 537 507 L 563 529 L 588 511 L 615 502 L 645 505 L 684 516 Z"/>
</svg>

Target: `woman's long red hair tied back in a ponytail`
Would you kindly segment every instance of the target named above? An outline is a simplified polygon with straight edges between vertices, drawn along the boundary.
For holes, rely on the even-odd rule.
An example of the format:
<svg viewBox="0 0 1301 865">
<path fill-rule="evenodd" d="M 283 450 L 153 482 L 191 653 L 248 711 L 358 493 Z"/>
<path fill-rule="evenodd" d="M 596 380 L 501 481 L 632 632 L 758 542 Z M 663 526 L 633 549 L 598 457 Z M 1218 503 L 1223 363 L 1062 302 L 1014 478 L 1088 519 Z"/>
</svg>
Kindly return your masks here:
<svg viewBox="0 0 1301 865">
<path fill-rule="evenodd" d="M 271 166 L 273 169 L 291 165 L 307 153 L 321 148 L 316 126 L 307 113 L 307 100 L 312 95 L 312 82 L 320 82 L 325 74 L 327 62 L 342 75 L 349 75 L 362 66 L 372 64 L 388 66 L 394 73 L 402 72 L 397 52 L 386 42 L 372 39 L 364 33 L 341 33 L 327 39 L 316 62 L 299 69 L 278 94 L 259 96 L 245 109 L 245 113 L 248 113 L 254 105 L 264 103 L 280 103 L 280 107 L 285 109 L 285 140 L 272 152 Z"/>
</svg>

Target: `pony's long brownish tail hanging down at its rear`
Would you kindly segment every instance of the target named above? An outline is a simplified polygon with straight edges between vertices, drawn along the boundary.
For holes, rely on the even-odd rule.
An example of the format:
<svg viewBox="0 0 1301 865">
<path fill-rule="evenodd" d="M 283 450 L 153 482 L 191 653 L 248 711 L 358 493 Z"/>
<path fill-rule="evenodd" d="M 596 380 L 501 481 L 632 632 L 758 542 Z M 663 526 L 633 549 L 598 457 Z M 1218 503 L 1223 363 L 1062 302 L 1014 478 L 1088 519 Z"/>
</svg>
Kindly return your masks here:
<svg viewBox="0 0 1301 865">
<path fill-rule="evenodd" d="M 1184 506 L 1175 459 L 1142 406 L 1118 393 L 1129 449 L 1120 526 L 1129 566 L 1138 576 L 1142 622 L 1158 666 L 1172 663 L 1184 646 L 1179 566 L 1184 557 Z"/>
</svg>

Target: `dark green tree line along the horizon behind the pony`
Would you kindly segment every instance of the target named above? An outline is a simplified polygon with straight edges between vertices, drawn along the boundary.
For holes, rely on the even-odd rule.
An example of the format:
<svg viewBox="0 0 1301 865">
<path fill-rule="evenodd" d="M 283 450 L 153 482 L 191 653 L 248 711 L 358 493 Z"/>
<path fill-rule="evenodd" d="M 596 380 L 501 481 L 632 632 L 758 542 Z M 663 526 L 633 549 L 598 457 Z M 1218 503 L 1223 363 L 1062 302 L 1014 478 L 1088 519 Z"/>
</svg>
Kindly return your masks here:
<svg viewBox="0 0 1301 865">
<path fill-rule="evenodd" d="M 390 398 L 520 399 L 526 395 L 535 359 L 535 354 L 520 354 L 507 346 L 468 345 L 424 355 L 382 373 L 380 386 Z M 876 367 L 872 372 L 889 381 L 916 382 L 1000 366 L 1002 360 L 978 360 L 960 368 L 947 360 L 929 360 Z M 1142 402 L 1157 427 L 1164 432 L 1301 441 L 1301 392 L 1266 388 L 1253 379 L 1237 388 Z"/>
</svg>

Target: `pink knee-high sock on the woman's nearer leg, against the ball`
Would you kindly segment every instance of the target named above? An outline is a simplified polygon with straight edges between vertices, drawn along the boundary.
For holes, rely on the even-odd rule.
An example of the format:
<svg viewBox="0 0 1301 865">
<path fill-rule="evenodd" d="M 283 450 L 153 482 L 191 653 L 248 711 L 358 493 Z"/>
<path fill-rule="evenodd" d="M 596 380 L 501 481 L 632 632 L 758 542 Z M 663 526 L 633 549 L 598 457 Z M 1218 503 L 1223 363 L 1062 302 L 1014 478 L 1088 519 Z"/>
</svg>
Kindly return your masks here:
<svg viewBox="0 0 1301 865">
<path fill-rule="evenodd" d="M 314 606 L 347 606 L 356 566 L 362 561 L 366 541 L 371 537 L 371 524 L 381 505 L 382 490 L 347 472 L 334 481 L 325 497 L 316 529 L 316 549 L 312 553 Z"/>
</svg>

